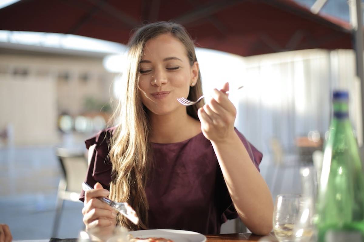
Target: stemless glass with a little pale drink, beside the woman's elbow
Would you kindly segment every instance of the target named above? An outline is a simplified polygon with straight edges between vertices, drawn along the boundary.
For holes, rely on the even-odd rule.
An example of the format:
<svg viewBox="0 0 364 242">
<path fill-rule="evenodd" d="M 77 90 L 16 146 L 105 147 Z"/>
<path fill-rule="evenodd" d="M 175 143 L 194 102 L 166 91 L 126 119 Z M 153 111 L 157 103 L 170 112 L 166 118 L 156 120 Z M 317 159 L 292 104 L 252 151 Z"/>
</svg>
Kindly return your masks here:
<svg viewBox="0 0 364 242">
<path fill-rule="evenodd" d="M 273 211 L 273 231 L 279 241 L 294 241 L 294 226 L 300 216 L 301 195 L 280 194 Z"/>
</svg>

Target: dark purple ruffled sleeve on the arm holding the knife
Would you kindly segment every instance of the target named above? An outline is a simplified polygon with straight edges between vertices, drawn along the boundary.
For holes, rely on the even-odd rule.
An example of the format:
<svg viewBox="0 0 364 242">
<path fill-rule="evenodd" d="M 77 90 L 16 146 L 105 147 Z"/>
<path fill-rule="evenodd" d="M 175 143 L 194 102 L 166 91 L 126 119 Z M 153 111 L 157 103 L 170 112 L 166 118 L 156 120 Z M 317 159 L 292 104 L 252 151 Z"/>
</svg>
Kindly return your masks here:
<svg viewBox="0 0 364 242">
<path fill-rule="evenodd" d="M 108 155 L 114 131 L 115 127 L 107 128 L 85 141 L 87 149 L 95 145 L 85 178 L 85 182 L 92 187 L 99 182 L 104 189 L 110 190 L 112 166 Z M 84 190 L 80 193 L 79 199 L 84 201 Z"/>
</svg>

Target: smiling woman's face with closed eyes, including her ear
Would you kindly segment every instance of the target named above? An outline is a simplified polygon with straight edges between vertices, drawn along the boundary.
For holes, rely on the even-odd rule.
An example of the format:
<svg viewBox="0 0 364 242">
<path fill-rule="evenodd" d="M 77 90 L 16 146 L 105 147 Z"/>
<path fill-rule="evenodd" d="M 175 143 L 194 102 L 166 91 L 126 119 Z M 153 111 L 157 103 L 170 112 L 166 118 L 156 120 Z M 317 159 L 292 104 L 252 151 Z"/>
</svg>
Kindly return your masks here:
<svg viewBox="0 0 364 242">
<path fill-rule="evenodd" d="M 139 89 L 143 104 L 151 112 L 185 112 L 177 98 L 186 98 L 197 78 L 198 63 L 190 66 L 186 48 L 177 38 L 161 34 L 146 42 L 139 64 Z"/>
</svg>

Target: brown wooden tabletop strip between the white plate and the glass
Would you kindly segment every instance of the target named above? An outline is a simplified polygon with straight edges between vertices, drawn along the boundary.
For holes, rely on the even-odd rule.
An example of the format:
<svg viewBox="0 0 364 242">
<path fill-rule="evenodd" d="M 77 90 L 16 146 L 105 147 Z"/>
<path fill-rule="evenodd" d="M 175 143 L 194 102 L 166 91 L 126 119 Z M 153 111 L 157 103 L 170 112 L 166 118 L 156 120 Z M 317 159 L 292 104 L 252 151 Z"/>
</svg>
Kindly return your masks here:
<svg viewBox="0 0 364 242">
<path fill-rule="evenodd" d="M 258 236 L 252 233 L 238 233 L 238 234 L 218 234 L 218 235 L 206 235 L 207 242 L 236 242 L 236 241 L 259 241 L 263 236 Z M 271 232 L 265 236 L 266 241 L 277 241 L 274 233 Z"/>
</svg>

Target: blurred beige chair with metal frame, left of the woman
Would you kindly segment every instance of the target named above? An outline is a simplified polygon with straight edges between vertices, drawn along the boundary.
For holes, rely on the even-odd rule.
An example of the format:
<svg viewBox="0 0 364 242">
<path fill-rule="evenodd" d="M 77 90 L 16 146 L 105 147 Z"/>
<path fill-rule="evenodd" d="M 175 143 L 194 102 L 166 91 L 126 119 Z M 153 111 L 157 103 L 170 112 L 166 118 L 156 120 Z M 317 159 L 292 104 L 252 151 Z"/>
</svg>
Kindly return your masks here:
<svg viewBox="0 0 364 242">
<path fill-rule="evenodd" d="M 81 202 L 78 198 L 88 167 L 83 151 L 56 148 L 55 153 L 58 157 L 63 177 L 61 177 L 58 185 L 56 216 L 52 230 L 53 238 L 56 238 L 58 234 L 64 200 Z"/>
</svg>

